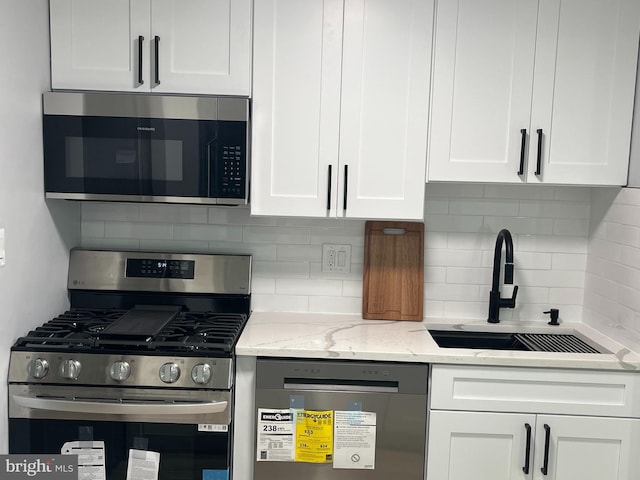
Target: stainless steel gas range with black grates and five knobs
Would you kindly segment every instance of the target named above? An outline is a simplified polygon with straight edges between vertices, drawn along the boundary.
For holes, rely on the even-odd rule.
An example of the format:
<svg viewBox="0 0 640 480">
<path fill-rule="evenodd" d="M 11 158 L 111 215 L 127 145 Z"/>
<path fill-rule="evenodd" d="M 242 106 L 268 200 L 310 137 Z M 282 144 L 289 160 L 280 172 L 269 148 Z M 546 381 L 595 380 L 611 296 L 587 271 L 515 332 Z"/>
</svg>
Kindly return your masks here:
<svg viewBox="0 0 640 480">
<path fill-rule="evenodd" d="M 72 250 L 70 310 L 11 349 L 10 453 L 76 454 L 97 480 L 231 478 L 250 285 L 248 255 Z"/>
</svg>

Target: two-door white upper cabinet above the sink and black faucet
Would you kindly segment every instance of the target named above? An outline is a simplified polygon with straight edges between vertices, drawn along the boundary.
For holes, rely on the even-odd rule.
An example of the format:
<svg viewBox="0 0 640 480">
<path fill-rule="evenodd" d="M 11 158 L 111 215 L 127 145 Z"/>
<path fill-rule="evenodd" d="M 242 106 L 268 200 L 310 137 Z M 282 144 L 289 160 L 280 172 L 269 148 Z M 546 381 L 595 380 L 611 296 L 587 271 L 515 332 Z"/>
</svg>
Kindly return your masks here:
<svg viewBox="0 0 640 480">
<path fill-rule="evenodd" d="M 624 185 L 637 0 L 439 0 L 428 180 Z"/>
</svg>

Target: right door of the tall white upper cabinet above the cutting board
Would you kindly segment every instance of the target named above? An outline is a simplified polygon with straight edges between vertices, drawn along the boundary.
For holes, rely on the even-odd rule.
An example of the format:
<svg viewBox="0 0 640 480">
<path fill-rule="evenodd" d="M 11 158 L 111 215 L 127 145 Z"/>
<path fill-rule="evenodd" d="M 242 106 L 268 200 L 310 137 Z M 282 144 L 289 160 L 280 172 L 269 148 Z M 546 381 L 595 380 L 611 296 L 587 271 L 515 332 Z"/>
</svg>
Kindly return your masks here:
<svg viewBox="0 0 640 480">
<path fill-rule="evenodd" d="M 432 24 L 433 0 L 345 0 L 338 215 L 423 218 Z"/>
</svg>

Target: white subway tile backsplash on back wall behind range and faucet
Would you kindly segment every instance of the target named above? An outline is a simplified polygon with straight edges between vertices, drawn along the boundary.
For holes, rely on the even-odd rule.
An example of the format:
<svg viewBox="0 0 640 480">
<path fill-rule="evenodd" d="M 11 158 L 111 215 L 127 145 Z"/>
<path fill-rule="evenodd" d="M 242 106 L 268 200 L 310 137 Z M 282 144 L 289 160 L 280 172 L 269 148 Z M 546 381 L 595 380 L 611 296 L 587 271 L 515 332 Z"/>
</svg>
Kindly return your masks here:
<svg viewBox="0 0 640 480">
<path fill-rule="evenodd" d="M 582 315 L 590 189 L 427 184 L 425 316 L 487 315 L 497 232 L 514 236 L 518 308 L 502 319 Z M 254 255 L 256 311 L 360 313 L 364 221 L 251 217 L 246 208 L 84 203 L 85 247 Z M 321 272 L 323 243 L 352 245 L 350 274 Z"/>
</svg>

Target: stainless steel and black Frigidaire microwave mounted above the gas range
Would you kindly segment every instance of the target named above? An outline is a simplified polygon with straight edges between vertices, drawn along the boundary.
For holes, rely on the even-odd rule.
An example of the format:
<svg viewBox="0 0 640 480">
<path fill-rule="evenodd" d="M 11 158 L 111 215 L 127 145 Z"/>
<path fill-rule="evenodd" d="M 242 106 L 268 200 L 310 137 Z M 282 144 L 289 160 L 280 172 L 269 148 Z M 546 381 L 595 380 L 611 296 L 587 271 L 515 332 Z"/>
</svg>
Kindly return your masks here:
<svg viewBox="0 0 640 480">
<path fill-rule="evenodd" d="M 47 198 L 244 205 L 249 99 L 46 92 Z"/>
</svg>

